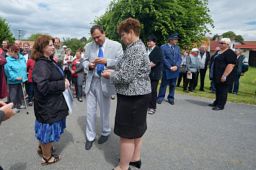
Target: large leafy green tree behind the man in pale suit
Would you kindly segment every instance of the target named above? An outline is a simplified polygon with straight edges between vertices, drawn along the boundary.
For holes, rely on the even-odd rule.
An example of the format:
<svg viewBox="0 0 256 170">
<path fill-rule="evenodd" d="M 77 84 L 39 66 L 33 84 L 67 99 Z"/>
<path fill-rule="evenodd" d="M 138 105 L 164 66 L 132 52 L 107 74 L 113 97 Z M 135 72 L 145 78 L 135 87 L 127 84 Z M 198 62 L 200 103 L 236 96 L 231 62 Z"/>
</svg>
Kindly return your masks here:
<svg viewBox="0 0 256 170">
<path fill-rule="evenodd" d="M 182 49 L 201 44 L 210 32 L 206 24 L 213 26 L 208 15 L 208 0 L 113 0 L 105 14 L 94 19 L 102 25 L 106 36 L 120 42 L 116 30 L 120 22 L 132 17 L 141 23 L 140 38 L 156 35 L 158 44 L 165 44 L 167 37 L 179 33 L 179 46 Z"/>
</svg>

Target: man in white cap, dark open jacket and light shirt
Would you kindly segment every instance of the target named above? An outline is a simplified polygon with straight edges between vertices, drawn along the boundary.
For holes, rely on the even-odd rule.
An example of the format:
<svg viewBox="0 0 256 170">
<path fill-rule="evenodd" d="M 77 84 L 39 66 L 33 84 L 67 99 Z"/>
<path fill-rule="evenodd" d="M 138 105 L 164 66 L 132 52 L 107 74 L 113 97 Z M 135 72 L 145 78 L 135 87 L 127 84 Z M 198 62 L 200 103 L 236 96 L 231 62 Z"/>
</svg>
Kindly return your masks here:
<svg viewBox="0 0 256 170">
<path fill-rule="evenodd" d="M 198 85 L 198 75 L 200 73 L 200 91 L 205 91 L 204 88 L 204 82 L 206 77 L 206 70 L 208 67 L 208 62 L 210 60 L 210 52 L 206 51 L 206 45 L 201 45 L 200 52 L 198 54 L 198 60 L 199 60 L 199 68 L 198 74 L 195 77 L 195 82 L 193 85 L 193 88 L 195 90 L 196 86 Z"/>
</svg>

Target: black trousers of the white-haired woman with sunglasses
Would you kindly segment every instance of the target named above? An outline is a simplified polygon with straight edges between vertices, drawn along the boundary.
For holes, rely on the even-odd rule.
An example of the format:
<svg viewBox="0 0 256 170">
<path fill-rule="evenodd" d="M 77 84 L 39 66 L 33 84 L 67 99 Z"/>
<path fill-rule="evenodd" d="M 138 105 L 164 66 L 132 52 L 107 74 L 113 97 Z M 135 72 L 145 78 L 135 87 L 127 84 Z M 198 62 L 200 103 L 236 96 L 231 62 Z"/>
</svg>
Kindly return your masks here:
<svg viewBox="0 0 256 170">
<path fill-rule="evenodd" d="M 216 100 L 213 103 L 215 103 L 218 108 L 224 109 L 226 99 L 228 98 L 229 85 L 215 82 L 214 87 L 216 88 Z"/>
</svg>

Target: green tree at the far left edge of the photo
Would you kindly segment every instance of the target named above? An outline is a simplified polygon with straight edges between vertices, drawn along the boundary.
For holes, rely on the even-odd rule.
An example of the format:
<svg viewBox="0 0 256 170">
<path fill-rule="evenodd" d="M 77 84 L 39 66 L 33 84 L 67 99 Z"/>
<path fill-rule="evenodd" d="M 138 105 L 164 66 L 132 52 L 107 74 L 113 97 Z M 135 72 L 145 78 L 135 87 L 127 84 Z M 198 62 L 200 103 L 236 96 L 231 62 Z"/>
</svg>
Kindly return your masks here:
<svg viewBox="0 0 256 170">
<path fill-rule="evenodd" d="M 11 43 L 15 40 L 9 22 L 6 22 L 6 19 L 0 16 L 0 42 L 3 42 L 5 39 L 9 40 Z"/>
</svg>

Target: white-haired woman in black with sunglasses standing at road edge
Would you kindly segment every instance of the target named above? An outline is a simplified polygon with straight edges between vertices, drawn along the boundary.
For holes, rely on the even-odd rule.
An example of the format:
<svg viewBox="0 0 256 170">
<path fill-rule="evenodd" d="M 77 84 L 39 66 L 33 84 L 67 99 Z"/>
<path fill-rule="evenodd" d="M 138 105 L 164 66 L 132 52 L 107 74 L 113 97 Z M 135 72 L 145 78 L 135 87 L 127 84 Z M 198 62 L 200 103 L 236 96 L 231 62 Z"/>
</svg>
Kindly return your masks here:
<svg viewBox="0 0 256 170">
<path fill-rule="evenodd" d="M 229 49 L 231 41 L 223 38 L 219 42 L 221 50 L 213 55 L 213 65 L 211 65 L 210 77 L 214 81 L 216 88 L 216 100 L 209 104 L 214 106 L 213 110 L 223 110 L 229 92 L 229 85 L 234 82 L 236 77 L 237 55 Z"/>
</svg>

